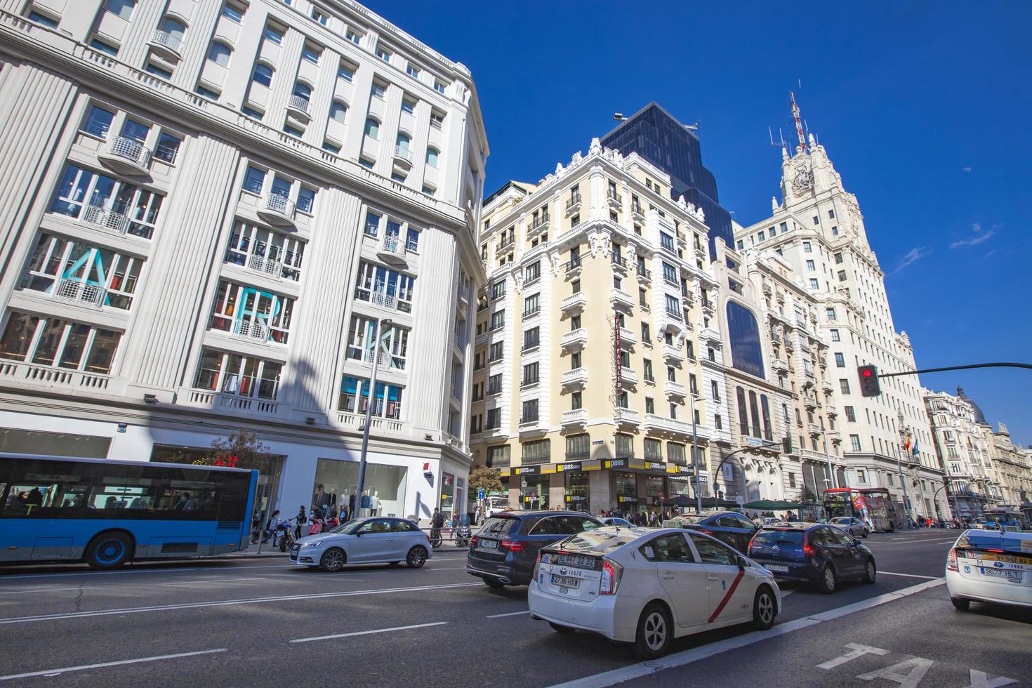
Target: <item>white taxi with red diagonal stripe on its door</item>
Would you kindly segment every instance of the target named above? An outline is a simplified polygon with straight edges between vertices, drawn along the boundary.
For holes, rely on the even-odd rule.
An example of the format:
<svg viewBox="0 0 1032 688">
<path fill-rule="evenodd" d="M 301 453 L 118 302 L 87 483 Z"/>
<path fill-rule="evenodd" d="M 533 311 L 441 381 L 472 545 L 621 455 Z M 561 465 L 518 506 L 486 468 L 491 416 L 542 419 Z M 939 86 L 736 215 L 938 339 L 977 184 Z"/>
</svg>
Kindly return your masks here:
<svg viewBox="0 0 1032 688">
<path fill-rule="evenodd" d="M 543 548 L 527 592 L 530 616 L 665 654 L 681 635 L 751 623 L 781 610 L 773 575 L 714 537 L 676 528 L 586 530 Z"/>
</svg>

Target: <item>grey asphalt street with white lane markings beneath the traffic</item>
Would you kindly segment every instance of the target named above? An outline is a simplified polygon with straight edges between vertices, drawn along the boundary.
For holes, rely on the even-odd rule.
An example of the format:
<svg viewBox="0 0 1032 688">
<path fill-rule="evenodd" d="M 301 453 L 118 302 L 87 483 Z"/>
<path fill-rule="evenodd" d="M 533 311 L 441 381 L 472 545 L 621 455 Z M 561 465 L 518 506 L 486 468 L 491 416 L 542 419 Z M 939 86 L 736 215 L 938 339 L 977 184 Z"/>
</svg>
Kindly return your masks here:
<svg viewBox="0 0 1032 688">
<path fill-rule="evenodd" d="M 874 534 L 867 544 L 875 585 L 823 595 L 785 584 L 771 630 L 681 638 L 673 654 L 648 663 L 588 633 L 554 633 L 526 613 L 526 588 L 489 590 L 465 574 L 464 551 L 451 548 L 422 569 L 365 565 L 335 575 L 280 556 L 116 572 L 6 568 L 0 682 L 1032 686 L 1032 614 L 949 604 L 940 581 L 955 536 Z"/>
</svg>

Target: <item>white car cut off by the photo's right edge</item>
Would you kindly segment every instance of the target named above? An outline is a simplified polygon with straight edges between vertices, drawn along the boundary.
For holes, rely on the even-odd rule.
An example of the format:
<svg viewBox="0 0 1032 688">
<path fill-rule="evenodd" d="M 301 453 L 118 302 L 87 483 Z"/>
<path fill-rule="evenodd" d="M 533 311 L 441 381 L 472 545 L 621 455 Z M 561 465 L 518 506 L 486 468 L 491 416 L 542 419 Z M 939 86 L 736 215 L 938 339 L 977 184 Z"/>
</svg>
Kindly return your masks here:
<svg viewBox="0 0 1032 688">
<path fill-rule="evenodd" d="M 1032 608 L 1032 533 L 965 530 L 946 555 L 946 588 L 959 610 L 972 601 Z"/>
</svg>

